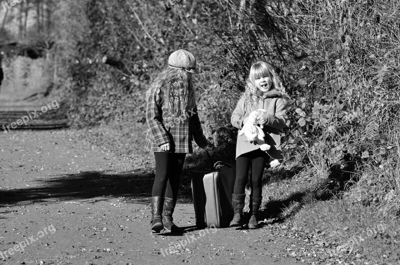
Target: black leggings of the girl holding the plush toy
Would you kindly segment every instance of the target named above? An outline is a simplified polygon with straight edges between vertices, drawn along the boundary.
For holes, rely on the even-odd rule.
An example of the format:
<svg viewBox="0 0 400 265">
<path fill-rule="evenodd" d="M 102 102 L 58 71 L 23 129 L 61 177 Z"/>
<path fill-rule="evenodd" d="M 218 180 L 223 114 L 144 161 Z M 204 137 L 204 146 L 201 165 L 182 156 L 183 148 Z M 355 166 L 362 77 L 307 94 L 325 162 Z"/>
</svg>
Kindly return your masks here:
<svg viewBox="0 0 400 265">
<path fill-rule="evenodd" d="M 260 149 L 245 153 L 236 158 L 236 181 L 234 194 L 244 194 L 248 170 L 251 164 L 251 194 L 253 198 L 261 198 L 262 173 L 269 156 Z"/>
</svg>

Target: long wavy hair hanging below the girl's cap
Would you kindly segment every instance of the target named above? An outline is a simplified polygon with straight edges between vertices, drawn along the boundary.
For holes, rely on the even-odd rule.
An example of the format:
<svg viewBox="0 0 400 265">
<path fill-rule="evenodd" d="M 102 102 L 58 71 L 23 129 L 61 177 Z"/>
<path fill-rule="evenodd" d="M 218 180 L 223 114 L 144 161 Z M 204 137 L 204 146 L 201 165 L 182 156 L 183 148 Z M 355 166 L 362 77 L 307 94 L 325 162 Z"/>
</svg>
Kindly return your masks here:
<svg viewBox="0 0 400 265">
<path fill-rule="evenodd" d="M 162 70 L 151 83 L 146 98 L 151 93 L 155 93 L 160 104 L 165 101 L 165 106 L 175 115 L 184 115 L 195 104 L 191 73 L 185 70 L 170 67 Z"/>
</svg>

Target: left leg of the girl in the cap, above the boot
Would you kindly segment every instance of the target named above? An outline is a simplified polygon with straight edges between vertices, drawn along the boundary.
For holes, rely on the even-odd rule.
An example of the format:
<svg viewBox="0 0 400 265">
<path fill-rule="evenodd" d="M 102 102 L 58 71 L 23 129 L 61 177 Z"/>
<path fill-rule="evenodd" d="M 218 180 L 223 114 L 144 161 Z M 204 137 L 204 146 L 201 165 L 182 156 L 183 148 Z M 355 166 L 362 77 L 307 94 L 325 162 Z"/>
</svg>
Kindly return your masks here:
<svg viewBox="0 0 400 265">
<path fill-rule="evenodd" d="M 155 178 L 153 183 L 153 188 L 151 191 L 151 196 L 164 197 L 164 192 L 166 188 L 166 182 L 168 180 L 168 165 L 172 160 L 171 154 L 166 152 L 155 152 Z"/>
</svg>

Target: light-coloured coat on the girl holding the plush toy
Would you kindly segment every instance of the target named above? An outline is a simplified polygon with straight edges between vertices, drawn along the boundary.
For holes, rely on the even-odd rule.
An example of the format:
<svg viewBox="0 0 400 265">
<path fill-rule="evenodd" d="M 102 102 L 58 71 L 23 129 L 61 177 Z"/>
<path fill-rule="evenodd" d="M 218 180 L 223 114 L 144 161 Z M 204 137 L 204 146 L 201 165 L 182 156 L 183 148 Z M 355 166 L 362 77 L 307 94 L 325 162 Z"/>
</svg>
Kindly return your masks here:
<svg viewBox="0 0 400 265">
<path fill-rule="evenodd" d="M 239 129 L 243 127 L 244 120 L 250 115 L 250 112 L 257 109 L 264 109 L 268 115 L 268 121 L 264 124 L 262 129 L 265 133 L 265 143 L 271 146 L 271 149 L 266 153 L 273 159 L 283 159 L 282 148 L 280 146 L 280 129 L 286 124 L 286 104 L 282 99 L 282 95 L 275 90 L 265 92 L 256 104 L 253 104 L 251 110 L 245 110 L 243 97 L 240 98 L 234 109 L 230 122 L 232 125 Z M 239 133 L 238 132 L 238 133 Z M 236 158 L 242 154 L 257 150 L 259 145 L 256 141 L 249 142 L 245 135 L 237 134 L 236 142 Z"/>
</svg>

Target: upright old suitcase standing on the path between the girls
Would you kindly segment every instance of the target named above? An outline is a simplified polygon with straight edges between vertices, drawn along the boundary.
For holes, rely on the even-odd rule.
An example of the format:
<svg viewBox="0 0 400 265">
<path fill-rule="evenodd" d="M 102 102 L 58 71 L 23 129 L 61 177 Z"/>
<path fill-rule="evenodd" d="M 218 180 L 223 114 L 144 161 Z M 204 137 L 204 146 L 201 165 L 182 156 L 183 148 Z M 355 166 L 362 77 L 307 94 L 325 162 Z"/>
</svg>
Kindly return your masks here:
<svg viewBox="0 0 400 265">
<path fill-rule="evenodd" d="M 235 178 L 235 166 L 223 162 L 216 162 L 211 170 L 193 172 L 191 191 L 197 228 L 229 226 Z"/>
</svg>

